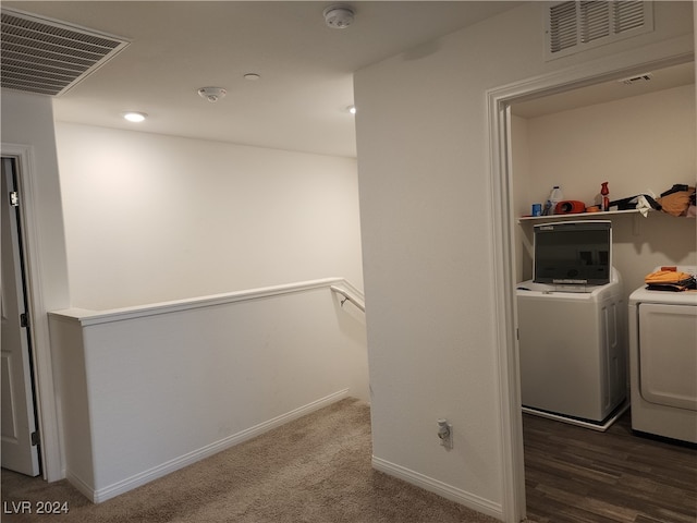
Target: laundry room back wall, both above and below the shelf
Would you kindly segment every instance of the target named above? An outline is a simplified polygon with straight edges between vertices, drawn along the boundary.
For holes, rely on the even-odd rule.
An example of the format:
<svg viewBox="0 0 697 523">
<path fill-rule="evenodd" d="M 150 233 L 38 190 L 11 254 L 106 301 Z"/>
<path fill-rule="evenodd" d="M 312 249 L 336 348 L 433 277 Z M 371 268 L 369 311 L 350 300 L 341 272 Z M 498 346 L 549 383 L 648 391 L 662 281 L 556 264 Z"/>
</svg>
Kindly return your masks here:
<svg viewBox="0 0 697 523">
<path fill-rule="evenodd" d="M 518 216 L 529 214 L 530 204 L 543 202 L 557 184 L 564 198 L 592 205 L 604 181 L 611 199 L 645 192 L 658 196 L 675 183 L 697 182 L 694 84 L 515 122 Z M 626 295 L 657 266 L 697 265 L 695 219 L 658 214 L 594 218 L 613 222 L 613 265 Z M 521 228 L 531 244 L 533 224 Z M 531 277 L 531 258 L 525 247 L 519 251 L 522 281 Z"/>
</svg>

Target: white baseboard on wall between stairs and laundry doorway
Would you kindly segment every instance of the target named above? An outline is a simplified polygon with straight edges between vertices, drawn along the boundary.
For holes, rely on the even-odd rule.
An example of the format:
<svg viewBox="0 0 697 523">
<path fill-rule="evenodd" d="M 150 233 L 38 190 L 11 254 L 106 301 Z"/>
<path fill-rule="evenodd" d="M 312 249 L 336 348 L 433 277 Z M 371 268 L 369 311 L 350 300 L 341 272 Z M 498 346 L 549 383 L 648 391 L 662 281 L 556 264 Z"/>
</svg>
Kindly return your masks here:
<svg viewBox="0 0 697 523">
<path fill-rule="evenodd" d="M 383 472 L 390 476 L 403 479 L 408 484 L 442 496 L 445 499 L 455 501 L 468 509 L 503 521 L 503 508 L 501 507 L 501 503 L 494 503 L 493 501 L 466 492 L 465 490 L 455 488 L 452 485 L 425 476 L 424 474 L 414 472 L 404 466 L 390 463 L 389 461 L 375 455 L 372 457 L 372 467 L 376 471 Z"/>
</svg>

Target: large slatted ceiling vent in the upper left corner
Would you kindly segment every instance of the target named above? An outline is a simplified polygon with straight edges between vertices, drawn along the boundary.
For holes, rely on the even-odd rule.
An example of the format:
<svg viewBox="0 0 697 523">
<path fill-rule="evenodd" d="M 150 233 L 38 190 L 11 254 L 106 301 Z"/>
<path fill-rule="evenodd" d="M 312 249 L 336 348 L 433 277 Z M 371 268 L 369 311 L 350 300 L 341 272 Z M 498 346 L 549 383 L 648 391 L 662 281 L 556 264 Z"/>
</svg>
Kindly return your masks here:
<svg viewBox="0 0 697 523">
<path fill-rule="evenodd" d="M 127 45 L 124 38 L 2 9 L 0 86 L 58 96 Z"/>
</svg>

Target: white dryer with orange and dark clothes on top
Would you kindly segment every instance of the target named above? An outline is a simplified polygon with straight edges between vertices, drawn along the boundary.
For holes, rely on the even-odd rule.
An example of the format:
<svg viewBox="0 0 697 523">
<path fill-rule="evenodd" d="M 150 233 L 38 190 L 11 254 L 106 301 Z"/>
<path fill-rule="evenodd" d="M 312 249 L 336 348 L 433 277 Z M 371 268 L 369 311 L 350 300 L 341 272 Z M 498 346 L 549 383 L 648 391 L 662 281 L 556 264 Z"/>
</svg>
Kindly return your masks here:
<svg viewBox="0 0 697 523">
<path fill-rule="evenodd" d="M 697 291 L 640 287 L 628 311 L 632 428 L 696 443 Z"/>
</svg>

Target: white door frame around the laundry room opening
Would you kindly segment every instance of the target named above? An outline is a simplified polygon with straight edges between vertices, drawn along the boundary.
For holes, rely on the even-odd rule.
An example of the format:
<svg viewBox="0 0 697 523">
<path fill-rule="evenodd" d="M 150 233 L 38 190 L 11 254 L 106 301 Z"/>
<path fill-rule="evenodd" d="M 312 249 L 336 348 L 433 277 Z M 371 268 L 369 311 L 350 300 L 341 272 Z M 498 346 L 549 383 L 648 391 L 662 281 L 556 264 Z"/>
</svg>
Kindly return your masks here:
<svg viewBox="0 0 697 523">
<path fill-rule="evenodd" d="M 697 16 L 696 16 L 697 17 Z M 689 42 L 689 45 L 686 45 Z M 685 51 L 692 47 L 690 51 Z M 526 518 L 521 412 L 510 106 L 609 80 L 694 61 L 693 35 L 487 90 L 494 268 L 496 343 L 501 399 L 502 508 L 506 523 Z"/>
</svg>

